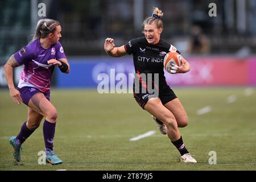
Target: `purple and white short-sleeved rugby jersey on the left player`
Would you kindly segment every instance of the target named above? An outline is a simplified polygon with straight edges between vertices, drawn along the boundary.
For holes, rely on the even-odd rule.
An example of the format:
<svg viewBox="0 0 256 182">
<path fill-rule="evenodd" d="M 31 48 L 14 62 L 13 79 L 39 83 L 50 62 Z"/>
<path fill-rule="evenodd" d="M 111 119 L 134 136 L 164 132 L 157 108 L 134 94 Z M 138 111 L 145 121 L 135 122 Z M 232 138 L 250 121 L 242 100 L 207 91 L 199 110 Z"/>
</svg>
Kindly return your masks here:
<svg viewBox="0 0 256 182">
<path fill-rule="evenodd" d="M 14 53 L 14 57 L 20 65 L 23 64 L 18 88 L 31 86 L 42 92 L 47 92 L 50 89 L 51 76 L 55 68 L 47 61 L 50 59 L 67 59 L 60 42 L 44 49 L 40 44 L 40 39 Z"/>
</svg>

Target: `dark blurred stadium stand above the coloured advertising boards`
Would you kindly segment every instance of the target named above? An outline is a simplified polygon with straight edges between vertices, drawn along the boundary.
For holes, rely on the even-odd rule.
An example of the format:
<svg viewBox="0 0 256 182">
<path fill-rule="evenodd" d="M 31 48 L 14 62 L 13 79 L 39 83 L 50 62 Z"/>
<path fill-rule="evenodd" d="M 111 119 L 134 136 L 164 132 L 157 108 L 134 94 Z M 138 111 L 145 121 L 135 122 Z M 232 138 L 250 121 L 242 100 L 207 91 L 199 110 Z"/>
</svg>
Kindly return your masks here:
<svg viewBox="0 0 256 182">
<path fill-rule="evenodd" d="M 194 25 L 209 39 L 210 54 L 234 54 L 244 47 L 256 52 L 255 0 L 1 0 L 0 63 L 30 42 L 40 19 L 34 5 L 41 2 L 46 4 L 47 18 L 61 23 L 61 43 L 68 56 L 105 55 L 106 37 L 121 46 L 142 36 L 141 23 L 154 6 L 164 12 L 163 39 L 183 52 Z M 212 2 L 217 5 L 216 17 L 208 15 Z"/>
</svg>

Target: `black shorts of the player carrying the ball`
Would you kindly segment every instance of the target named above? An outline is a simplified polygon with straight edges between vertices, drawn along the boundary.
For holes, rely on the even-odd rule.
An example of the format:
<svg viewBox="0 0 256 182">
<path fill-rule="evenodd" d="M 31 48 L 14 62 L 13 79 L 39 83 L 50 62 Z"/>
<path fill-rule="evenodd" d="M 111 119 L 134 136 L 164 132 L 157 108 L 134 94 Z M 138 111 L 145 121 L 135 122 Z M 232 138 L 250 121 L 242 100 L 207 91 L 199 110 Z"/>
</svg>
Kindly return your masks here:
<svg viewBox="0 0 256 182">
<path fill-rule="evenodd" d="M 148 93 L 133 93 L 133 95 L 135 100 L 138 102 L 139 106 L 142 107 L 142 109 L 144 109 L 144 106 L 147 104 L 147 101 L 149 99 L 148 97 L 151 96 L 151 94 Z M 163 105 L 177 98 L 177 96 L 175 95 L 174 91 L 171 88 L 161 90 L 159 92 L 158 97 L 160 98 Z"/>
</svg>

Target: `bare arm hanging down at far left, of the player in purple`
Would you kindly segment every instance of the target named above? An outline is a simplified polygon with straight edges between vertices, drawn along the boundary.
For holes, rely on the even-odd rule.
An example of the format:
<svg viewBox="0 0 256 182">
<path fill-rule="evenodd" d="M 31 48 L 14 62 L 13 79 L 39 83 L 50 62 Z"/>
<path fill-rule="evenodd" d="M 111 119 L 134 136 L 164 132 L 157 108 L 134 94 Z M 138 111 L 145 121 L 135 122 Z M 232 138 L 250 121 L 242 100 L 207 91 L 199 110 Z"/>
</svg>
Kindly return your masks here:
<svg viewBox="0 0 256 182">
<path fill-rule="evenodd" d="M 4 68 L 4 72 L 5 72 L 6 82 L 9 87 L 9 90 L 10 90 L 11 98 L 17 104 L 22 104 L 22 98 L 20 97 L 19 90 L 17 90 L 15 88 L 14 82 L 13 82 L 13 69 L 15 67 L 19 67 L 19 65 L 20 64 L 16 61 L 14 55 L 11 55 L 11 57 L 6 62 L 6 64 L 4 65 L 3 68 Z"/>
</svg>

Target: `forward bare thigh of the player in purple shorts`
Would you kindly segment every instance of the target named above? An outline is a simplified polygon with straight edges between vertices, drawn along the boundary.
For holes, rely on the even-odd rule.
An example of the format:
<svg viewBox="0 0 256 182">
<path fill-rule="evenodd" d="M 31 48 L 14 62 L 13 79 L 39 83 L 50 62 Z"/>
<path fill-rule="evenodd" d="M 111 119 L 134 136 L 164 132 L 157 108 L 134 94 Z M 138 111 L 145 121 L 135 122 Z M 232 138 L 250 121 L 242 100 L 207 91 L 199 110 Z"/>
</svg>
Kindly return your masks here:
<svg viewBox="0 0 256 182">
<path fill-rule="evenodd" d="M 45 117 L 57 112 L 55 107 L 46 98 L 46 96 L 44 96 L 43 93 L 36 93 L 28 102 L 28 106 Z"/>
</svg>

